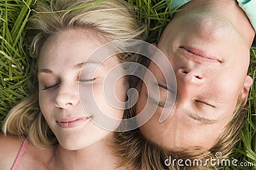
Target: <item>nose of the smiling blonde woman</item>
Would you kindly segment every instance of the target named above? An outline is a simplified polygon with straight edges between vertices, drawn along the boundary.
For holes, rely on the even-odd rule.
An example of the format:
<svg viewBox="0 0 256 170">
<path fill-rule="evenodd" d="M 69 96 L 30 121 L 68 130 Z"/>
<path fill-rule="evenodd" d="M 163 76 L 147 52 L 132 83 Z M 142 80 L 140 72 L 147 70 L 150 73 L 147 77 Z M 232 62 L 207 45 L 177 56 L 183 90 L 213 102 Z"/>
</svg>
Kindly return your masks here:
<svg viewBox="0 0 256 170">
<path fill-rule="evenodd" d="M 79 103 L 78 85 L 62 83 L 58 89 L 55 103 L 56 107 L 63 109 L 76 106 Z"/>
</svg>

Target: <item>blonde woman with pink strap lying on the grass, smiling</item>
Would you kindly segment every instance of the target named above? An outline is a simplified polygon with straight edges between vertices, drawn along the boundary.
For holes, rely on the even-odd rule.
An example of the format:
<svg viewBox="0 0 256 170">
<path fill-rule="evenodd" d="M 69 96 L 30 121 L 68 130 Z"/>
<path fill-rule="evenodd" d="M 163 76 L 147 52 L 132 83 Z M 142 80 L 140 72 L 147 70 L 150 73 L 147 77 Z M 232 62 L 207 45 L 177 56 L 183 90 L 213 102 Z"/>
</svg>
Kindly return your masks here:
<svg viewBox="0 0 256 170">
<path fill-rule="evenodd" d="M 69 10 L 77 6 L 81 8 Z M 28 35 L 38 83 L 4 121 L 7 135 L 0 136 L 1 169 L 114 169 L 117 159 L 109 147 L 113 133 L 94 125 L 93 113 L 84 114 L 78 84 L 93 88 L 95 101 L 106 115 L 122 118 L 124 110 L 104 99 L 104 78 L 121 62 L 138 61 L 138 55 L 120 53 L 102 63 L 87 59 L 110 41 L 141 39 L 145 28 L 123 1 L 38 1 L 36 11 Z M 93 74 L 96 66 L 99 69 Z M 127 78 L 122 77 L 114 90 L 120 101 L 126 99 L 124 89 Z"/>
</svg>

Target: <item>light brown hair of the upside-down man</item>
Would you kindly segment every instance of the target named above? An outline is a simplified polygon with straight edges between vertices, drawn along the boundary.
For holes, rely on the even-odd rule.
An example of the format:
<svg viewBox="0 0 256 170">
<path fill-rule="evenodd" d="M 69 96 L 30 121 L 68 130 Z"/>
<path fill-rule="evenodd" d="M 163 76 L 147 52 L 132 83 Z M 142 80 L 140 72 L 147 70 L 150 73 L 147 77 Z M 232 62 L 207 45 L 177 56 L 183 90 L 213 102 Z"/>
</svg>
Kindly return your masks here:
<svg viewBox="0 0 256 170">
<path fill-rule="evenodd" d="M 136 89 L 140 92 L 141 80 L 134 80 L 138 82 Z M 135 107 L 126 111 L 126 118 L 134 117 Z M 217 169 L 218 166 L 212 166 L 210 162 L 205 166 L 182 166 L 179 167 L 177 161 L 175 164 L 166 166 L 164 160 L 172 157 L 173 159 L 182 159 L 183 162 L 186 159 L 193 160 L 200 159 L 202 162 L 207 162 L 207 159 L 216 159 L 216 154 L 221 152 L 222 158 L 225 159 L 232 153 L 232 148 L 240 139 L 240 133 L 243 128 L 246 115 L 246 109 L 243 104 L 241 94 L 237 98 L 236 108 L 233 112 L 232 118 L 216 144 L 209 150 L 204 150 L 200 147 L 189 148 L 188 150 L 182 150 L 174 152 L 168 148 L 163 148 L 156 143 L 152 143 L 143 137 L 139 129 L 127 132 L 115 132 L 115 141 L 113 147 L 115 148 L 116 157 L 120 158 L 118 166 L 132 167 L 133 169 Z"/>
</svg>

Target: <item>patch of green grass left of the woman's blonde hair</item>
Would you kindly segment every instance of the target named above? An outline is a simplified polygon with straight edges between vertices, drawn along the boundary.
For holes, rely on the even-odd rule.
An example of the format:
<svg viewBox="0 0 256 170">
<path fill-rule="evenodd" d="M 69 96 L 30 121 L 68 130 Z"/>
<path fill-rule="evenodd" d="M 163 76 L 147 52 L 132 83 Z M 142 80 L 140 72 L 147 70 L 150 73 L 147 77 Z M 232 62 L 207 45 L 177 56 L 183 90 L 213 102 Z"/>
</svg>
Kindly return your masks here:
<svg viewBox="0 0 256 170">
<path fill-rule="evenodd" d="M 24 47 L 28 6 L 33 0 L 0 0 L 0 121 L 29 93 L 31 59 Z"/>
</svg>

